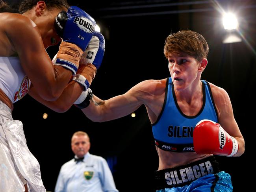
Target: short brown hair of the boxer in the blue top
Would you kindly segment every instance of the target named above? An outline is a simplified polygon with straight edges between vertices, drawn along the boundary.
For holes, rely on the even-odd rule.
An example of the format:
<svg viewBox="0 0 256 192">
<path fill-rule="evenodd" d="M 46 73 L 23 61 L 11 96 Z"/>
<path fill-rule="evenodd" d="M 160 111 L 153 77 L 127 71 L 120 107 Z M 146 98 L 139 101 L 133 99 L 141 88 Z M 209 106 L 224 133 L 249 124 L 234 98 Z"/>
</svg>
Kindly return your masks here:
<svg viewBox="0 0 256 192">
<path fill-rule="evenodd" d="M 184 30 L 172 33 L 165 40 L 165 57 L 168 53 L 185 53 L 195 57 L 197 61 L 207 58 L 209 47 L 202 35 L 195 31 Z"/>
</svg>

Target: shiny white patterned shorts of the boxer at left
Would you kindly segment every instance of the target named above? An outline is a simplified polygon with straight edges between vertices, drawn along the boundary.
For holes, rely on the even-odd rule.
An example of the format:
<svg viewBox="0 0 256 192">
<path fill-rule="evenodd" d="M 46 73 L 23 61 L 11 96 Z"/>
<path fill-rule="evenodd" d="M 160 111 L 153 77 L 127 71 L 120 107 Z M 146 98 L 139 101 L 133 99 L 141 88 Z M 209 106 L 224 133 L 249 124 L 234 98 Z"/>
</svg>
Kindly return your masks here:
<svg viewBox="0 0 256 192">
<path fill-rule="evenodd" d="M 26 181 L 24 180 L 26 179 Z M 11 109 L 0 101 L 0 191 L 45 192 L 40 166 L 26 144 L 22 122 L 13 120 Z"/>
</svg>

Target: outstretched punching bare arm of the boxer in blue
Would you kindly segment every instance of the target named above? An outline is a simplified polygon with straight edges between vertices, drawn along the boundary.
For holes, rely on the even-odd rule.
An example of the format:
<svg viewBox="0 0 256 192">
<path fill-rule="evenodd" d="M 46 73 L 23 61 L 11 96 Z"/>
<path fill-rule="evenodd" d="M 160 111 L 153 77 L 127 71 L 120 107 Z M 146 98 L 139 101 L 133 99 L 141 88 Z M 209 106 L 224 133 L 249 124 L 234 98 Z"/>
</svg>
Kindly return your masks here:
<svg viewBox="0 0 256 192">
<path fill-rule="evenodd" d="M 126 116 L 141 105 L 147 105 L 154 95 L 156 83 L 154 80 L 143 81 L 125 94 L 115 96 L 108 100 L 101 100 L 93 96 L 91 103 L 83 113 L 92 121 L 104 122 Z"/>
</svg>

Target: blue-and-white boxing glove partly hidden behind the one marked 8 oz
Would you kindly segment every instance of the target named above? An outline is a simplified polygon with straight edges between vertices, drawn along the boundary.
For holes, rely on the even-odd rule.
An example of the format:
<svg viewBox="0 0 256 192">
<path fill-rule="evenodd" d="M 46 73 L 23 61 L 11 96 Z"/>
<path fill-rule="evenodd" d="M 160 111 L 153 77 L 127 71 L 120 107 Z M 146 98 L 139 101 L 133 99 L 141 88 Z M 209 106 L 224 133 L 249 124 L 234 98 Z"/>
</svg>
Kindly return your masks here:
<svg viewBox="0 0 256 192">
<path fill-rule="evenodd" d="M 83 90 L 87 90 L 90 87 L 95 77 L 96 69 L 100 68 L 104 52 L 105 39 L 100 32 L 94 31 L 93 37 L 80 60 L 79 69 L 83 69 L 73 78 L 74 81 L 83 85 Z M 83 64 L 86 66 L 83 66 Z"/>
</svg>

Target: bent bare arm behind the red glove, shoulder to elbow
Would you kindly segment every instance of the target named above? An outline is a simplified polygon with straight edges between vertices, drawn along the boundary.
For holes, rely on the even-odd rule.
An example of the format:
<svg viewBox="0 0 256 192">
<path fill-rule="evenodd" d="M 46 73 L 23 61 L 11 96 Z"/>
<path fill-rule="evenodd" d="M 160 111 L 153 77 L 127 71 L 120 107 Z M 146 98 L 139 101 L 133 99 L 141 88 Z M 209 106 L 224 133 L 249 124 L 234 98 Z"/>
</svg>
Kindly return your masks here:
<svg viewBox="0 0 256 192">
<path fill-rule="evenodd" d="M 235 156 L 240 156 L 245 151 L 245 140 L 234 118 L 232 104 L 228 93 L 224 89 L 213 84 L 211 84 L 211 89 L 215 105 L 219 111 L 219 124 L 229 135 L 237 139 L 239 149 Z"/>
</svg>

